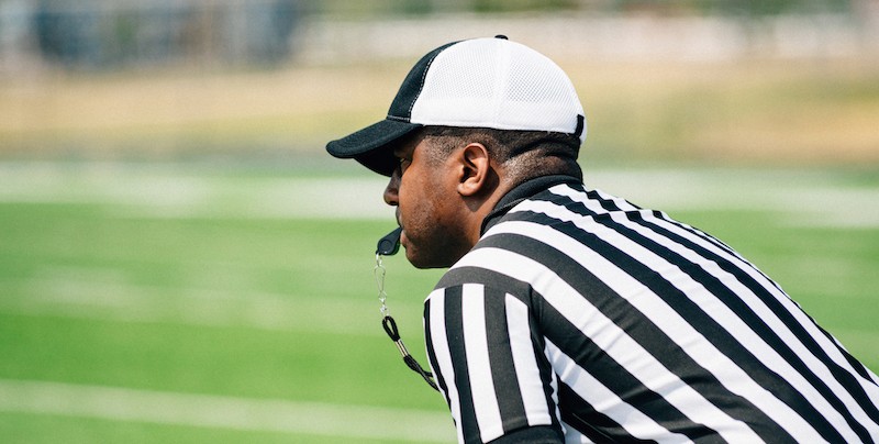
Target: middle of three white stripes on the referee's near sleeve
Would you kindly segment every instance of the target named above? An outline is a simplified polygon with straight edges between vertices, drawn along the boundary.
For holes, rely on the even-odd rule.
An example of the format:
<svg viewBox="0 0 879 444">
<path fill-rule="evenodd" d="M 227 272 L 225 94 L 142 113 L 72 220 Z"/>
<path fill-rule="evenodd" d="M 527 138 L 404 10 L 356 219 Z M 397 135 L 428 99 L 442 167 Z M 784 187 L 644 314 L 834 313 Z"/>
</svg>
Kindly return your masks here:
<svg viewBox="0 0 879 444">
<path fill-rule="evenodd" d="M 479 426 L 479 436 L 488 442 L 503 435 L 503 426 L 489 363 L 482 290 L 482 286 L 471 284 L 461 288 L 461 328 L 474 414 Z"/>
</svg>

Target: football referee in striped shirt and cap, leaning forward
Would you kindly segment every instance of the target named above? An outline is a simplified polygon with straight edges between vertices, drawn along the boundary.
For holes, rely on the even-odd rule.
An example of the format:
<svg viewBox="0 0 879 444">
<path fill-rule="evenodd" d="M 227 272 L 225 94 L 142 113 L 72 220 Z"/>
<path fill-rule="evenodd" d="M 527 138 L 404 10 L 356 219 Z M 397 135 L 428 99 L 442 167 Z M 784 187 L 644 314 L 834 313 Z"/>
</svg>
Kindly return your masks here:
<svg viewBox="0 0 879 444">
<path fill-rule="evenodd" d="M 567 75 L 503 36 L 412 68 L 327 144 L 390 177 L 458 440 L 877 442 L 879 378 L 730 246 L 583 185 Z"/>
</svg>

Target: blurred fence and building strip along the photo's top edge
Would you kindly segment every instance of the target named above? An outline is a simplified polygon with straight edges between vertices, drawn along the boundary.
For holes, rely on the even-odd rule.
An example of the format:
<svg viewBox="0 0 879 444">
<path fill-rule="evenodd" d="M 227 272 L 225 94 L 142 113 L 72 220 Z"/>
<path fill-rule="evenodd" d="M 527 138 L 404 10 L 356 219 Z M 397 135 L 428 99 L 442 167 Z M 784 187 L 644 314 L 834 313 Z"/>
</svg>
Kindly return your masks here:
<svg viewBox="0 0 879 444">
<path fill-rule="evenodd" d="M 412 57 L 449 38 L 494 33 L 578 57 L 879 53 L 877 0 L 556 1 L 539 15 L 476 13 L 482 3 L 491 2 L 0 0 L 0 74 Z M 785 8 L 763 7 L 770 3 Z"/>
</svg>

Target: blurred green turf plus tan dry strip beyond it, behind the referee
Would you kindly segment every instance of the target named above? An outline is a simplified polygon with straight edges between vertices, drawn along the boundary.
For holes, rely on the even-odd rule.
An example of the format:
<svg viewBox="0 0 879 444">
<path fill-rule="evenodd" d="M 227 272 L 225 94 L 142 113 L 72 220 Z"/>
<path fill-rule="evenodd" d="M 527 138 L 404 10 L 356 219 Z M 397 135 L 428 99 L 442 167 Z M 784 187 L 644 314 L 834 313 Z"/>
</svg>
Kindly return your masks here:
<svg viewBox="0 0 879 444">
<path fill-rule="evenodd" d="M 322 149 L 412 62 L 2 77 L 0 443 L 454 442 L 380 326 L 383 184 Z M 879 371 L 874 55 L 557 62 L 591 186 L 725 241 Z M 442 271 L 386 265 L 424 363 Z"/>
</svg>

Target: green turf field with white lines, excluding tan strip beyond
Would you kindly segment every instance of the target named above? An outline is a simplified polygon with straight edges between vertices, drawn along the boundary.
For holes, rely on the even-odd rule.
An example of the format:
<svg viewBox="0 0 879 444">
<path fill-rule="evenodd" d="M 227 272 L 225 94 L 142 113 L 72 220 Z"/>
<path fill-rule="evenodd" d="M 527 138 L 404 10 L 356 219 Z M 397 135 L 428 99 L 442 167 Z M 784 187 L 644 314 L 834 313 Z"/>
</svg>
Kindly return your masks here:
<svg viewBox="0 0 879 444">
<path fill-rule="evenodd" d="M 280 171 L 0 165 L 0 439 L 453 441 L 444 401 L 380 329 L 383 184 Z M 721 237 L 879 370 L 877 175 L 589 177 Z M 423 359 L 421 301 L 439 271 L 385 263 Z"/>
</svg>

